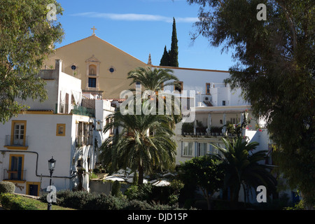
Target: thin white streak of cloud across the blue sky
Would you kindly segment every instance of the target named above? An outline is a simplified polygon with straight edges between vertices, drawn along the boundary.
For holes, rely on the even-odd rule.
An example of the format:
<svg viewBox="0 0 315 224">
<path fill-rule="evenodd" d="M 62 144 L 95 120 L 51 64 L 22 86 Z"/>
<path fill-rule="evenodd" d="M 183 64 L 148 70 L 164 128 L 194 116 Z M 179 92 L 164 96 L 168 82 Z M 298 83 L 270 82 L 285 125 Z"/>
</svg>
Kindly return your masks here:
<svg viewBox="0 0 315 224">
<path fill-rule="evenodd" d="M 135 14 L 135 13 L 75 13 L 72 16 L 82 16 L 89 18 L 103 18 L 109 20 L 123 20 L 123 21 L 158 21 L 158 22 L 173 22 L 173 18 L 162 15 L 150 15 L 150 14 Z M 175 18 L 176 22 L 197 22 L 198 18 Z"/>
</svg>

